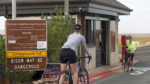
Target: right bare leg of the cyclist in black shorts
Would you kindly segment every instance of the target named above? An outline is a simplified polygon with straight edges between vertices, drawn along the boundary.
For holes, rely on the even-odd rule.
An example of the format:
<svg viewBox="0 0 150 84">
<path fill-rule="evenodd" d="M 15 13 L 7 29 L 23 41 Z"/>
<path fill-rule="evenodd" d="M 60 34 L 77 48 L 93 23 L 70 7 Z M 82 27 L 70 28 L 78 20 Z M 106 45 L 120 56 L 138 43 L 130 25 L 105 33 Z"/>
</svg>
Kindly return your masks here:
<svg viewBox="0 0 150 84">
<path fill-rule="evenodd" d="M 73 72 L 73 84 L 78 83 L 78 62 L 70 64 L 71 70 Z"/>
</svg>

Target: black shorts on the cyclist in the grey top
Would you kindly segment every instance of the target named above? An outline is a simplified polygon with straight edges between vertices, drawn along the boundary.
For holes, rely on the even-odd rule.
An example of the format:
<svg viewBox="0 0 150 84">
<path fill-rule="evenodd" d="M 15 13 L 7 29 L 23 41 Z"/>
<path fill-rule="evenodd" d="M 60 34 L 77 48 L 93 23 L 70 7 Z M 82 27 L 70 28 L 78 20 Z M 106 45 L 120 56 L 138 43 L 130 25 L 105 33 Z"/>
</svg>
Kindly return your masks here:
<svg viewBox="0 0 150 84">
<path fill-rule="evenodd" d="M 70 48 L 62 48 L 59 55 L 60 63 L 66 64 L 69 62 L 70 64 L 74 64 L 77 62 L 77 56 L 74 50 Z"/>
</svg>

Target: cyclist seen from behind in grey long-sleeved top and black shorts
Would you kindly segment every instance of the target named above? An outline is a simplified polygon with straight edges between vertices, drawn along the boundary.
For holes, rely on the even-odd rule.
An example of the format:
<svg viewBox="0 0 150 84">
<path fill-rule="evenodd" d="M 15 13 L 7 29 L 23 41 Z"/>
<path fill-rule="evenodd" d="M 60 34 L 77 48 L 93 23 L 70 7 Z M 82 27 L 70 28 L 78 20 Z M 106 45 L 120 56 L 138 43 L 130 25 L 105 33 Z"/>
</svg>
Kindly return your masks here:
<svg viewBox="0 0 150 84">
<path fill-rule="evenodd" d="M 78 81 L 78 63 L 76 56 L 76 49 L 82 44 L 86 54 L 90 56 L 88 52 L 88 48 L 86 46 L 85 37 L 80 34 L 81 25 L 74 25 L 74 33 L 70 34 L 67 41 L 62 46 L 60 52 L 60 63 L 61 63 L 61 71 L 67 70 L 67 62 L 70 63 L 71 70 L 73 72 L 73 84 L 77 84 Z M 63 82 L 64 76 L 60 78 L 60 84 Z"/>
</svg>

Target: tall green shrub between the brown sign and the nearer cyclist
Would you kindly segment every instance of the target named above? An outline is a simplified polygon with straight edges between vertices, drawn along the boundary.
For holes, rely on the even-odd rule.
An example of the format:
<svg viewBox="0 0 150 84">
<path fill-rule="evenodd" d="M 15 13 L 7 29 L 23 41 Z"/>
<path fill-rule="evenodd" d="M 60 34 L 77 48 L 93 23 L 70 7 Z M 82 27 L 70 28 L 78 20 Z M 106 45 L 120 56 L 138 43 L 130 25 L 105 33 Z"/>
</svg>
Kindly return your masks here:
<svg viewBox="0 0 150 84">
<path fill-rule="evenodd" d="M 56 7 L 56 14 L 50 16 L 42 14 L 42 19 L 47 20 L 48 36 L 48 62 L 59 63 L 59 53 L 67 36 L 73 32 L 73 19 L 71 15 L 63 15 L 62 9 Z"/>
</svg>

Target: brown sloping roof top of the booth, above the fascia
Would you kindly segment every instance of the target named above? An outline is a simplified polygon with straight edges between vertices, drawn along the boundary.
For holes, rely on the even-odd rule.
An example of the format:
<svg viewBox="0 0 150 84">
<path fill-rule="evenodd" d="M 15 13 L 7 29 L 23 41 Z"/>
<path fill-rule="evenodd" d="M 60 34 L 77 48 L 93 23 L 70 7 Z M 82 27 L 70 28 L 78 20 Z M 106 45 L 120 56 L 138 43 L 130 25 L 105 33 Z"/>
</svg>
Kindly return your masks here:
<svg viewBox="0 0 150 84">
<path fill-rule="evenodd" d="M 0 5 L 11 4 L 12 0 L 0 0 Z M 64 0 L 16 0 L 19 4 L 37 4 L 37 3 L 64 3 Z M 116 7 L 128 11 L 132 9 L 118 2 L 117 0 L 69 0 L 70 3 L 97 3 L 101 5 Z"/>
</svg>

